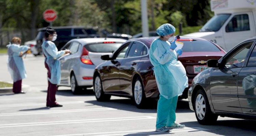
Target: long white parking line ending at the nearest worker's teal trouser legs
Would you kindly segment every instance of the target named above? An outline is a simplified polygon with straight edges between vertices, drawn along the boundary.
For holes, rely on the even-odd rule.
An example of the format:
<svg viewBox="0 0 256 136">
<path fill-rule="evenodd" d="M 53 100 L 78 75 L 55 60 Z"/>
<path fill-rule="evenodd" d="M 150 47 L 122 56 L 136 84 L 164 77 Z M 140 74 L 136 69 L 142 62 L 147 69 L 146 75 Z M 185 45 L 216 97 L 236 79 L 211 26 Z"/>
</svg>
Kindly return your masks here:
<svg viewBox="0 0 256 136">
<path fill-rule="evenodd" d="M 141 117 L 123 117 L 123 118 L 103 118 L 103 119 L 84 119 L 84 120 L 65 120 L 65 121 L 51 121 L 51 122 L 32 122 L 32 123 L 16 123 L 16 124 L 0 124 L 0 128 L 18 127 L 18 126 L 39 126 L 39 125 L 55 125 L 55 124 L 74 124 L 74 123 L 88 123 L 88 122 L 106 122 L 106 121 L 124 121 L 124 120 L 143 120 L 155 119 L 151 116 Z"/>
</svg>

